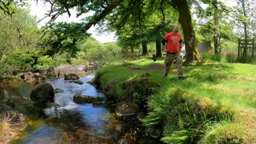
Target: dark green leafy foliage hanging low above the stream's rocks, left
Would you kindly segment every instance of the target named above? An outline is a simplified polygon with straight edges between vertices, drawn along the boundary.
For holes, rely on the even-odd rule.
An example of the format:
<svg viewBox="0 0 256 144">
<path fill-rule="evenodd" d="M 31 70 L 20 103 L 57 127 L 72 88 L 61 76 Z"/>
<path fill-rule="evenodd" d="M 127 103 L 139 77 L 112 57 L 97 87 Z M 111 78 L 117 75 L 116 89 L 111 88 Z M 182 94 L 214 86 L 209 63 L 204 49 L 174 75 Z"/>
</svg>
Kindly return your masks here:
<svg viewBox="0 0 256 144">
<path fill-rule="evenodd" d="M 78 41 L 90 35 L 84 26 L 82 22 L 58 22 L 43 28 L 45 34 L 40 45 L 42 55 L 54 57 L 54 54 L 66 52 L 68 58 L 74 58 L 78 54 Z"/>
</svg>

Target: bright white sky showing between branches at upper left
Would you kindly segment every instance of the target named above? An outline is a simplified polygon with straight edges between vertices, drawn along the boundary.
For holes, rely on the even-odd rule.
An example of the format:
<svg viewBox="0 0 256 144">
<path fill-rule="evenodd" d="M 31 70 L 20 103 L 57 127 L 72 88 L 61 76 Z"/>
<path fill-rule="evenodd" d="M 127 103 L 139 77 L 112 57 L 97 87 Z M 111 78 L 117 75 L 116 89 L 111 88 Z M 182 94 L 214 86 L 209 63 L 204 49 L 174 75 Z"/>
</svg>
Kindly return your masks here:
<svg viewBox="0 0 256 144">
<path fill-rule="evenodd" d="M 48 10 L 50 10 L 50 5 L 48 3 L 38 1 L 29 1 L 30 3 L 30 14 L 37 17 L 37 20 L 41 20 L 46 17 Z M 81 18 L 76 18 L 76 11 L 70 10 L 71 16 L 68 14 L 63 14 L 56 19 L 56 22 L 79 22 Z M 38 23 L 39 26 L 44 26 L 46 22 L 48 22 L 50 18 L 45 18 L 41 22 Z M 98 42 L 116 42 L 116 38 L 114 38 L 114 33 L 109 34 L 98 34 L 97 26 L 91 26 L 88 30 L 88 33 L 92 34 L 92 37 L 98 40 Z"/>
</svg>

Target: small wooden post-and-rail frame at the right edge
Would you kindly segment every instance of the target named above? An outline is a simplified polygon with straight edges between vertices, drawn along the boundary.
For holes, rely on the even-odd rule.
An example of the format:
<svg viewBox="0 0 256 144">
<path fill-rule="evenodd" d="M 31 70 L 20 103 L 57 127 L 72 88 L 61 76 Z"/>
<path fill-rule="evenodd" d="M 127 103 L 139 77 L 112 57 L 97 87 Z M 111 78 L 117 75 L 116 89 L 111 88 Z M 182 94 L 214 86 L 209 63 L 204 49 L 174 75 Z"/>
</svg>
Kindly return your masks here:
<svg viewBox="0 0 256 144">
<path fill-rule="evenodd" d="M 238 39 L 238 58 L 246 57 L 249 52 L 251 52 L 251 57 L 254 57 L 254 38 L 252 39 Z M 242 50 L 244 50 L 242 52 Z"/>
</svg>

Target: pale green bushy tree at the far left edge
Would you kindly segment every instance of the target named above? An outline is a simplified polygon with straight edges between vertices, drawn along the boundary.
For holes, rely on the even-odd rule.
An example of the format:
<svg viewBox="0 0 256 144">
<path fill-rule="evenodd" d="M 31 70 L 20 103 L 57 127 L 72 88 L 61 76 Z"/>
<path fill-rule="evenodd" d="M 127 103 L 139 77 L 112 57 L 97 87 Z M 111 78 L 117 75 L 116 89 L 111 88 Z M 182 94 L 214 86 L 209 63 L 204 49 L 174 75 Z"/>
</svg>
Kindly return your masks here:
<svg viewBox="0 0 256 144">
<path fill-rule="evenodd" d="M 35 18 L 29 10 L 11 6 L 15 11 L 11 16 L 0 10 L 0 75 L 29 69 L 33 56 L 38 54 L 40 36 Z"/>
</svg>

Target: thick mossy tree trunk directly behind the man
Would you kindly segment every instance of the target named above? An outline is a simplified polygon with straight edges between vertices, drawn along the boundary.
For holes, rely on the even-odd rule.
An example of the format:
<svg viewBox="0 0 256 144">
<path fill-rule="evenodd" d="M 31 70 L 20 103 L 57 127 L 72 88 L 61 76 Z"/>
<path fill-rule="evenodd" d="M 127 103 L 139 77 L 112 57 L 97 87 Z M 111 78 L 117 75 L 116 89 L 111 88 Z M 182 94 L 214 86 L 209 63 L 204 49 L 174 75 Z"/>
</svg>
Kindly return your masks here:
<svg viewBox="0 0 256 144">
<path fill-rule="evenodd" d="M 178 8 L 178 22 L 182 25 L 184 34 L 184 42 L 186 46 L 186 61 L 184 65 L 188 65 L 194 60 L 201 60 L 201 56 L 198 53 L 198 49 L 195 43 L 195 34 L 192 25 L 192 18 L 190 14 L 190 8 L 186 0 L 172 0 L 174 6 Z"/>
</svg>

